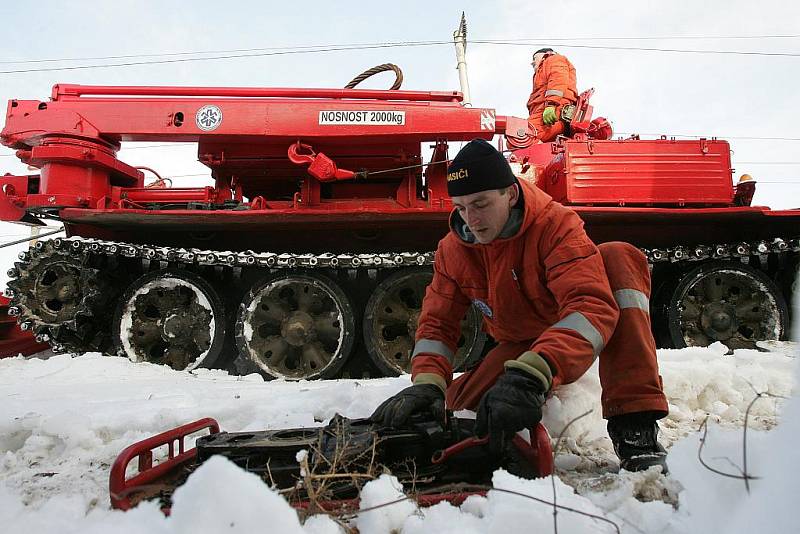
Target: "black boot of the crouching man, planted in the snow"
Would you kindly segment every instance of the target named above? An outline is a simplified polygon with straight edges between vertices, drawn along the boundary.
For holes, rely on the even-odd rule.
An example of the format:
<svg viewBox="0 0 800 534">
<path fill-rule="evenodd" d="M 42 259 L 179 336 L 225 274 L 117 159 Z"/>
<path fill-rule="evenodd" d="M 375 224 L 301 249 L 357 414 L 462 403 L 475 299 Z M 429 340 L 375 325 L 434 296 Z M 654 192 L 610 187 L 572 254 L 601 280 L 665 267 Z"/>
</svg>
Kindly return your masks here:
<svg viewBox="0 0 800 534">
<path fill-rule="evenodd" d="M 617 415 L 608 419 L 608 435 L 619 456 L 619 467 L 645 471 L 654 465 L 667 474 L 667 451 L 656 439 L 658 423 L 653 412 Z"/>
</svg>

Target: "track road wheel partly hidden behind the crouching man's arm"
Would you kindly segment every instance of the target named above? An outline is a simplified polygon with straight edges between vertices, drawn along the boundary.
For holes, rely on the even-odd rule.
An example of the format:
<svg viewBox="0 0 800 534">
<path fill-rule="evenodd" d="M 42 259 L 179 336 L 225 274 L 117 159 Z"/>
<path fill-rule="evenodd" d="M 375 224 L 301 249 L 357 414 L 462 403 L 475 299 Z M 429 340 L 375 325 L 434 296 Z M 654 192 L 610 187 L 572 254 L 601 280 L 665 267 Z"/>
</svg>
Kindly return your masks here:
<svg viewBox="0 0 800 534">
<path fill-rule="evenodd" d="M 364 344 L 375 365 L 388 376 L 411 372 L 422 299 L 432 279 L 429 269 L 404 269 L 378 284 L 367 302 Z M 461 322 L 453 369 L 463 371 L 470 367 L 481 356 L 485 342 L 481 314 L 470 307 Z"/>
</svg>

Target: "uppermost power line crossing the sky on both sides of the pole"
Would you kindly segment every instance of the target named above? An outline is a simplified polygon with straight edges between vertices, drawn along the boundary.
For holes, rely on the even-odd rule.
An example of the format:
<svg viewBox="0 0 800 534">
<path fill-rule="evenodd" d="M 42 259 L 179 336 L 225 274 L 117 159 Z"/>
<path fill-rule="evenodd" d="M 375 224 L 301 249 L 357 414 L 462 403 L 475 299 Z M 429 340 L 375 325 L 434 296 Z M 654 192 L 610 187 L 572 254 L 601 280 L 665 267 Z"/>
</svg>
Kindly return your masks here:
<svg viewBox="0 0 800 534">
<path fill-rule="evenodd" d="M 508 41 L 525 41 L 525 42 L 569 42 L 569 41 L 666 41 L 666 40 L 740 40 L 740 39 L 797 39 L 800 35 L 664 35 L 664 36 L 641 36 L 641 37 L 547 37 L 547 38 L 525 38 L 525 39 L 508 39 Z M 400 43 L 346 43 L 346 44 L 320 44 L 320 45 L 305 45 L 305 46 L 270 46 L 261 48 L 233 48 L 227 50 L 192 50 L 183 52 L 158 52 L 158 53 L 139 53 L 139 54 L 123 54 L 113 56 L 84 56 L 84 57 L 62 57 L 62 58 L 47 58 L 47 59 L 16 59 L 0 61 L 0 65 L 10 64 L 25 64 L 25 63 L 56 63 L 64 61 L 106 61 L 112 59 L 133 59 L 143 57 L 174 57 L 174 56 L 191 56 L 198 54 L 234 54 L 242 52 L 266 52 L 272 50 L 309 50 L 317 48 L 329 47 L 359 47 L 359 46 L 373 46 L 373 45 L 411 45 L 412 43 L 427 43 L 429 41 L 402 41 Z M 447 41 L 449 43 L 449 41 Z"/>
</svg>

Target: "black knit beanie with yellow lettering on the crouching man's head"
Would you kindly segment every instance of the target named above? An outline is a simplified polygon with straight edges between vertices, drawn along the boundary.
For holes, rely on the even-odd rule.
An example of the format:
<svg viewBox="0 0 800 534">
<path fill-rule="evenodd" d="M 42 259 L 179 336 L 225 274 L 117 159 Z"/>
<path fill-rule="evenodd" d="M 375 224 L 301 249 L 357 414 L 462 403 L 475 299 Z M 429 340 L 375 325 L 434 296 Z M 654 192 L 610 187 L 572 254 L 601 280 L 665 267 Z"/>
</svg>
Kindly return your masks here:
<svg viewBox="0 0 800 534">
<path fill-rule="evenodd" d="M 451 197 L 502 189 L 516 182 L 506 158 L 485 139 L 464 145 L 447 167 L 447 194 Z"/>
</svg>

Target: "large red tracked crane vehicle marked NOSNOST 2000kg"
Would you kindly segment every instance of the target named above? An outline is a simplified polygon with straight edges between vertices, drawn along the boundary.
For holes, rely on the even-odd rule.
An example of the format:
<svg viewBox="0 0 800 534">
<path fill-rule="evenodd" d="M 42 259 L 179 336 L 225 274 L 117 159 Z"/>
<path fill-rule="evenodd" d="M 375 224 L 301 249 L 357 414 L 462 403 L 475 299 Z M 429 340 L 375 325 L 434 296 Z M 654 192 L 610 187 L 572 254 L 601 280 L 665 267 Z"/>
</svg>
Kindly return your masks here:
<svg viewBox="0 0 800 534">
<path fill-rule="evenodd" d="M 499 136 L 596 242 L 646 252 L 662 346 L 783 338 L 800 211 L 751 207 L 725 141 L 608 140 L 590 95 L 546 144 L 455 91 L 56 85 L 48 102 L 12 100 L 0 140 L 41 172 L 0 177 L 0 219 L 57 219 L 69 237 L 21 255 L 9 311 L 57 350 L 397 374 L 447 232 L 452 145 Z M 145 185 L 116 157 L 130 141 L 197 143 L 214 185 Z M 460 367 L 486 341 L 480 312 L 463 325 Z"/>
</svg>

